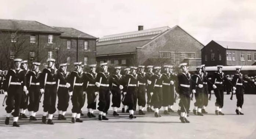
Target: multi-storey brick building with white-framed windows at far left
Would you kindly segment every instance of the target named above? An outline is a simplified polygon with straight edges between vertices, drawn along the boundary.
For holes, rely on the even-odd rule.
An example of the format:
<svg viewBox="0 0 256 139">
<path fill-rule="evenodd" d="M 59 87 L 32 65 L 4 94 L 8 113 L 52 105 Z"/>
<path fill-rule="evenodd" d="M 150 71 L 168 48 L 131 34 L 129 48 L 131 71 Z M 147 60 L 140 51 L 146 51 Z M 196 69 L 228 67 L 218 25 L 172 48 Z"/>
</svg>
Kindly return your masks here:
<svg viewBox="0 0 256 139">
<path fill-rule="evenodd" d="M 94 63 L 96 39 L 74 28 L 50 27 L 29 20 L 0 19 L 0 68 L 11 68 L 14 57 L 44 64 L 47 58 L 55 58 L 58 64 L 77 60 L 84 62 L 87 57 L 87 63 Z M 69 46 L 70 50 L 67 49 Z M 66 61 L 67 56 L 69 61 Z"/>
</svg>

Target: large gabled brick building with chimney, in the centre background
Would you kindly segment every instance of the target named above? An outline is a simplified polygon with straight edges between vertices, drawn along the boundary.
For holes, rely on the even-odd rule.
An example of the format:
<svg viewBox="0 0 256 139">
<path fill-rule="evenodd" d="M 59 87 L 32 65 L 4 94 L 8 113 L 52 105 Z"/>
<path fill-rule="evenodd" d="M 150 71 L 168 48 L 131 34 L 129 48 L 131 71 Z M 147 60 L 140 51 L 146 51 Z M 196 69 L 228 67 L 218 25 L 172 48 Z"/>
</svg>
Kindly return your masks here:
<svg viewBox="0 0 256 139">
<path fill-rule="evenodd" d="M 96 44 L 96 61 L 111 65 L 130 66 L 138 64 L 172 64 L 188 62 L 201 64 L 201 49 L 204 47 L 181 27 L 158 27 L 107 35 Z"/>
</svg>

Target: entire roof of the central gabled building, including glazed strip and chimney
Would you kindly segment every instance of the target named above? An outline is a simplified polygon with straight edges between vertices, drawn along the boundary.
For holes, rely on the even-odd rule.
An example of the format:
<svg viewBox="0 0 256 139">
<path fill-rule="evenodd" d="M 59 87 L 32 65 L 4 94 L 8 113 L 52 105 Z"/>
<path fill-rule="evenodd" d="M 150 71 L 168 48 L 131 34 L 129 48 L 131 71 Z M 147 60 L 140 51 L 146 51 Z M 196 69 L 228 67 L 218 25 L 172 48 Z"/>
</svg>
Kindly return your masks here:
<svg viewBox="0 0 256 139">
<path fill-rule="evenodd" d="M 145 45 L 151 43 L 158 37 L 161 37 L 161 35 L 167 33 L 168 31 L 171 31 L 176 27 L 179 27 L 179 26 L 174 26 L 172 28 L 165 26 L 165 27 L 152 28 L 148 30 L 103 36 L 102 38 L 99 38 L 97 40 L 96 55 L 104 56 L 104 55 L 117 55 L 117 54 L 124 54 L 124 53 L 136 53 L 137 48 L 144 47 Z M 180 29 L 183 30 L 182 28 Z M 186 32 L 186 34 L 188 33 Z M 193 36 L 191 37 L 194 38 Z"/>
</svg>

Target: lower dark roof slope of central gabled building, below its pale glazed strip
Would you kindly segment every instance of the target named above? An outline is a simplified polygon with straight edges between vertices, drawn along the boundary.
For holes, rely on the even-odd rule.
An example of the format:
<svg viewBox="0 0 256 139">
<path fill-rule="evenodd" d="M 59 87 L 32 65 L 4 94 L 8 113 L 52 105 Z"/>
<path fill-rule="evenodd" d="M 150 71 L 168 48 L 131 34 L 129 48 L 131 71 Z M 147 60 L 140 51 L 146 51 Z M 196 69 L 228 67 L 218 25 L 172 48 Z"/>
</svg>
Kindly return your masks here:
<svg viewBox="0 0 256 139">
<path fill-rule="evenodd" d="M 96 46 L 96 51 L 97 55 L 134 53 L 136 52 L 136 47 L 143 46 L 149 41 L 150 40 L 141 40 L 135 42 L 115 43 L 110 45 Z"/>
</svg>

